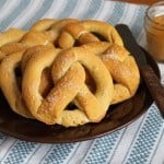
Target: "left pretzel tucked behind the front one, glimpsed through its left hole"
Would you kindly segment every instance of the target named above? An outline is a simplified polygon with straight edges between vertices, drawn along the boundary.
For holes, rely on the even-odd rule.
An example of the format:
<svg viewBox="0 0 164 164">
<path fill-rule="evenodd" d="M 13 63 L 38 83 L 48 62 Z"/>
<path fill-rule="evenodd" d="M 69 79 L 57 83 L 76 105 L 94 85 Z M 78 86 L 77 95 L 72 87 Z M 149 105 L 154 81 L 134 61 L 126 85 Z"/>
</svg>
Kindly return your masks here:
<svg viewBox="0 0 164 164">
<path fill-rule="evenodd" d="M 0 65 L 1 90 L 11 108 L 21 116 L 33 118 L 24 103 L 24 99 L 22 98 L 22 90 L 21 90 L 22 74 L 26 67 L 26 62 L 28 62 L 31 58 L 34 58 L 36 52 L 38 51 L 45 52 L 50 48 L 52 47 L 49 46 L 32 47 L 27 50 L 24 49 L 22 51 L 9 55 L 1 61 Z M 16 75 L 15 70 L 19 69 L 21 72 L 21 67 L 22 73 Z M 49 77 L 50 77 L 49 70 L 45 69 L 42 74 L 42 82 L 39 85 L 39 93 L 42 95 L 45 95 L 49 91 L 49 87 L 51 86 L 50 83 L 51 81 Z"/>
</svg>

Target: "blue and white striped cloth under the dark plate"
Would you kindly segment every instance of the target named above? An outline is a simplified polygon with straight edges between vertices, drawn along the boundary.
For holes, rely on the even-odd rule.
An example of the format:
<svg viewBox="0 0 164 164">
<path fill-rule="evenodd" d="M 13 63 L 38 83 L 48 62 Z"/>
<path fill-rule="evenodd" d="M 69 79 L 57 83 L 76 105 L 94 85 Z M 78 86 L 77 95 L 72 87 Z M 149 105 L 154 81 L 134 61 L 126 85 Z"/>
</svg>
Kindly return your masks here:
<svg viewBox="0 0 164 164">
<path fill-rule="evenodd" d="M 27 30 L 43 17 L 96 19 L 126 23 L 144 46 L 147 5 L 102 0 L 0 0 L 0 31 Z M 162 77 L 164 68 L 161 65 Z M 1 164 L 164 164 L 164 120 L 157 107 L 110 134 L 77 143 L 40 144 L 0 133 Z"/>
</svg>

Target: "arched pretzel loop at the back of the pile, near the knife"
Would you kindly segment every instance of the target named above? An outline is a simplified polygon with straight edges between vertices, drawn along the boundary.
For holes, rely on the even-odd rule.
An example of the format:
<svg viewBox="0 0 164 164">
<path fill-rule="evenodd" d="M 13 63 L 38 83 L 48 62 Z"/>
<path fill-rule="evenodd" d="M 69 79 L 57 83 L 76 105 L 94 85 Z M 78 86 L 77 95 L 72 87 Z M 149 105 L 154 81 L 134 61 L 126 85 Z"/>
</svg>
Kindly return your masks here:
<svg viewBox="0 0 164 164">
<path fill-rule="evenodd" d="M 106 42 L 118 44 L 120 46 L 124 45 L 120 36 L 113 25 L 94 20 L 86 20 L 66 25 L 59 36 L 58 44 L 61 48 L 69 48 L 73 47 L 77 40 L 80 44 L 98 42 L 98 37 L 92 33 L 101 35 L 106 39 Z"/>
</svg>

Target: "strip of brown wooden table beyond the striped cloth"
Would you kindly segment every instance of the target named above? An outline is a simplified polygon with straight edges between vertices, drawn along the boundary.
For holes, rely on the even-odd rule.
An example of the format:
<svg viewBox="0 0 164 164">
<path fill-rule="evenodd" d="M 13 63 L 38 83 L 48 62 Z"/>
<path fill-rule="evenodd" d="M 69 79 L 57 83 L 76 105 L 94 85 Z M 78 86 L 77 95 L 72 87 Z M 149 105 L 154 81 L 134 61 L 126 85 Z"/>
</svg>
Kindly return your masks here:
<svg viewBox="0 0 164 164">
<path fill-rule="evenodd" d="M 162 0 L 117 0 L 117 1 L 125 1 L 125 2 L 130 2 L 130 3 L 139 3 L 139 4 L 151 5 L 151 4 L 160 2 Z"/>
</svg>

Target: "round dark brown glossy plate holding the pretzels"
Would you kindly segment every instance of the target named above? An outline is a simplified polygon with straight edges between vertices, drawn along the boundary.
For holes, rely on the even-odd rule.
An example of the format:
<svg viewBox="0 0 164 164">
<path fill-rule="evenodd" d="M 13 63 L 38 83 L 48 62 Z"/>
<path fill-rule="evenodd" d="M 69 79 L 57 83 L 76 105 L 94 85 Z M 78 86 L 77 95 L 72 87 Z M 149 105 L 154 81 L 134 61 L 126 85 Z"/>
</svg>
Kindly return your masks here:
<svg viewBox="0 0 164 164">
<path fill-rule="evenodd" d="M 144 50 L 144 49 L 143 49 Z M 144 50 L 148 63 L 160 78 L 156 62 Z M 137 94 L 124 103 L 110 106 L 106 117 L 98 124 L 87 124 L 75 128 L 46 126 L 37 120 L 14 114 L 0 92 L 0 131 L 17 139 L 43 143 L 84 141 L 116 131 L 139 118 L 153 103 L 147 87 L 141 82 Z"/>
</svg>

